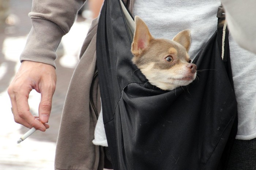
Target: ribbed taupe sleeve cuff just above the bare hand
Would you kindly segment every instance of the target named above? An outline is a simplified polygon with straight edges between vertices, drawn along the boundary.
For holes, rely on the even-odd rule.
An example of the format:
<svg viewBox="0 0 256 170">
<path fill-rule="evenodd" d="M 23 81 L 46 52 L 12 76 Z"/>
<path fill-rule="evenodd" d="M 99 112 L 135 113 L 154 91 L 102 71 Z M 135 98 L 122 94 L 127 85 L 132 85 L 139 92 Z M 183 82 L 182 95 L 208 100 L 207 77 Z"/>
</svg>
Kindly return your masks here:
<svg viewBox="0 0 256 170">
<path fill-rule="evenodd" d="M 29 60 L 50 64 L 56 68 L 54 60 L 60 44 L 63 30 L 55 23 L 42 18 L 31 18 L 32 28 L 27 37 L 26 46 L 20 55 L 20 62 Z"/>
</svg>

